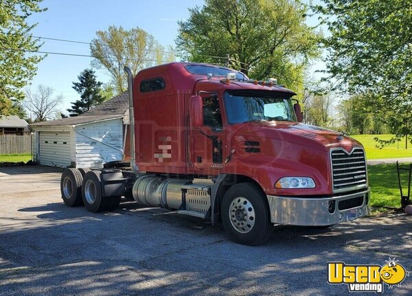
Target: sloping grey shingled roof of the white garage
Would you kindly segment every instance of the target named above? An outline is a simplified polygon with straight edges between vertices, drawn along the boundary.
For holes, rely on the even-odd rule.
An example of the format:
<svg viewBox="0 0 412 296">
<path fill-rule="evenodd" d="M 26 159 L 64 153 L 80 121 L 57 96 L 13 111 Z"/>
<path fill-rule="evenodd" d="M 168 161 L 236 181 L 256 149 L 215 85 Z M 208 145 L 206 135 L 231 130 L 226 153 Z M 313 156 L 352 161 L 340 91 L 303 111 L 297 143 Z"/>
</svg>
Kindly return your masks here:
<svg viewBox="0 0 412 296">
<path fill-rule="evenodd" d="M 43 121 L 41 123 L 34 123 L 30 127 L 38 126 L 61 126 L 61 125 L 82 125 L 86 123 L 93 123 L 96 121 L 104 121 L 108 119 L 123 118 L 128 111 L 128 92 L 121 93 L 99 106 L 84 112 L 80 116 L 68 117 L 65 119 L 58 119 L 54 121 Z"/>
</svg>

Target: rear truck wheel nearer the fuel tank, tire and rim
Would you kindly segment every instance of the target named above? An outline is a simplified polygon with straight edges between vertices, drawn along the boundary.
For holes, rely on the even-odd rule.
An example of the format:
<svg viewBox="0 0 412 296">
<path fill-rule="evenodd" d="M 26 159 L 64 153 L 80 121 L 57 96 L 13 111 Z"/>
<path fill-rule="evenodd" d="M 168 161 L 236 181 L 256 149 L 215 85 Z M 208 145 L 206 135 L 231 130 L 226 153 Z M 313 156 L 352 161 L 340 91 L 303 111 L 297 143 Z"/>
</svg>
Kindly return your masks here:
<svg viewBox="0 0 412 296">
<path fill-rule="evenodd" d="M 100 171 L 89 171 L 84 175 L 82 197 L 89 212 L 102 212 L 108 208 L 108 198 L 102 197 Z"/>
</svg>

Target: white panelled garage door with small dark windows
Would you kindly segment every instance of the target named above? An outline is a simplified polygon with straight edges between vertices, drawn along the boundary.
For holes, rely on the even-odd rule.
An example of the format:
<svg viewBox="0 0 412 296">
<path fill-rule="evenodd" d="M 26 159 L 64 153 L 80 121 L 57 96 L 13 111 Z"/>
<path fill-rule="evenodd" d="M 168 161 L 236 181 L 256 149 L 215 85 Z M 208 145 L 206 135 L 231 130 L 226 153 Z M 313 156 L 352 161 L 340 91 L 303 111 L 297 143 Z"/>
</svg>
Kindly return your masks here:
<svg viewBox="0 0 412 296">
<path fill-rule="evenodd" d="M 52 167 L 70 167 L 70 132 L 40 132 L 38 160 Z"/>
</svg>

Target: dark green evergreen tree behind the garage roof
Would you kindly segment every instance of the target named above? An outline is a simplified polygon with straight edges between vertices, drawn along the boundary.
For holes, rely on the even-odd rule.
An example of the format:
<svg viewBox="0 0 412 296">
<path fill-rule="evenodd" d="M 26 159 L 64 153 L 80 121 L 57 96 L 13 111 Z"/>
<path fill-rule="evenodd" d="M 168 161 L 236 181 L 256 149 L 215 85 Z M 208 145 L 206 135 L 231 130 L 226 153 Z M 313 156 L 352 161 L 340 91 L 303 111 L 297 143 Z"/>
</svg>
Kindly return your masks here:
<svg viewBox="0 0 412 296">
<path fill-rule="evenodd" d="M 70 116 L 78 116 L 104 101 L 102 97 L 102 82 L 96 80 L 95 72 L 85 69 L 78 76 L 80 82 L 73 82 L 73 89 L 80 95 L 80 100 L 71 103 Z"/>
</svg>

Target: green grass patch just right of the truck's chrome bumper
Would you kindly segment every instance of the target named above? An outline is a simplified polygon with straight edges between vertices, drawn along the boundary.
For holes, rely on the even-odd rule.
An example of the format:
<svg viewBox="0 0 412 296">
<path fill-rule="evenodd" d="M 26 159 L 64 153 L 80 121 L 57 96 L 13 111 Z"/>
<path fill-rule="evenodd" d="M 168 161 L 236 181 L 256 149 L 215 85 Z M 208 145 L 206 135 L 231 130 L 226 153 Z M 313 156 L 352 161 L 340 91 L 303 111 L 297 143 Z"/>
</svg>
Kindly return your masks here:
<svg viewBox="0 0 412 296">
<path fill-rule="evenodd" d="M 400 191 L 396 164 L 368 166 L 371 206 L 400 208 Z M 407 172 L 402 173 L 404 195 L 407 194 Z"/>
</svg>

